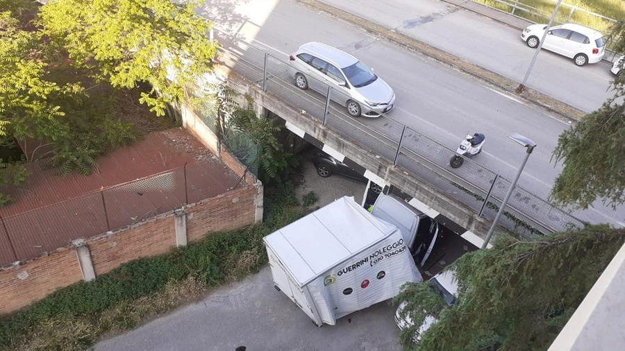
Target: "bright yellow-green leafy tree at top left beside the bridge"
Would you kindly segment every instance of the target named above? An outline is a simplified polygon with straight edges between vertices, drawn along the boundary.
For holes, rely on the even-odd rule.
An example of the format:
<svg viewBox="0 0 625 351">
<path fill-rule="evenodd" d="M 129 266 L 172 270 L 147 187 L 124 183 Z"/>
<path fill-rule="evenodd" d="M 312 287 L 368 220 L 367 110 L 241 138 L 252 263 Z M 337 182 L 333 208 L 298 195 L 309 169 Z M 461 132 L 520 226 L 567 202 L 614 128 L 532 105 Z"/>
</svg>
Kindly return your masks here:
<svg viewBox="0 0 625 351">
<path fill-rule="evenodd" d="M 217 44 L 198 1 L 56 0 L 40 10 L 43 33 L 113 87 L 150 83 L 140 101 L 162 115 L 180 101 L 185 85 L 212 69 Z"/>
</svg>

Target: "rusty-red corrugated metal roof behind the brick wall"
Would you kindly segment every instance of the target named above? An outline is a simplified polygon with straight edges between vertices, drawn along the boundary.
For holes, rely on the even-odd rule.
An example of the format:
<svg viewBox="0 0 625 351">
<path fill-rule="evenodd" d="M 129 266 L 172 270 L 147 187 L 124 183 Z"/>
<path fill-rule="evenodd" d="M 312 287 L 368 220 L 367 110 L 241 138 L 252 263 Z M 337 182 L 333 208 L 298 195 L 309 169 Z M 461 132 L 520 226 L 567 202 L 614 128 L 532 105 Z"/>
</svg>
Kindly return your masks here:
<svg viewBox="0 0 625 351">
<path fill-rule="evenodd" d="M 31 175 L 19 187 L 0 187 L 14 198 L 0 208 L 0 266 L 223 194 L 240 181 L 183 128 L 101 157 L 90 176 L 58 176 L 45 162 L 26 164 Z"/>
</svg>

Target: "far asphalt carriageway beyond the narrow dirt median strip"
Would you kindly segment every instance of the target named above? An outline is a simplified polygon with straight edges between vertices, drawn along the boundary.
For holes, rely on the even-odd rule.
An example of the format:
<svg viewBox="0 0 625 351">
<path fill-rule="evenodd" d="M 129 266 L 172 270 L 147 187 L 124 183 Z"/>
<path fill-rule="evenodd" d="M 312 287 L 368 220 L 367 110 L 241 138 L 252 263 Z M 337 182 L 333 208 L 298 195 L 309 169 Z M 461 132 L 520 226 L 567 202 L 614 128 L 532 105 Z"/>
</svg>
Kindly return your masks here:
<svg viewBox="0 0 625 351">
<path fill-rule="evenodd" d="M 520 39 L 519 28 L 451 5 L 460 1 L 319 1 L 393 28 L 517 82 L 522 82 L 534 55 L 534 50 Z M 515 20 L 515 23 L 519 22 Z M 591 112 L 613 95 L 608 91 L 613 79 L 611 67 L 607 62 L 577 67 L 572 59 L 542 51 L 527 86 Z"/>
</svg>

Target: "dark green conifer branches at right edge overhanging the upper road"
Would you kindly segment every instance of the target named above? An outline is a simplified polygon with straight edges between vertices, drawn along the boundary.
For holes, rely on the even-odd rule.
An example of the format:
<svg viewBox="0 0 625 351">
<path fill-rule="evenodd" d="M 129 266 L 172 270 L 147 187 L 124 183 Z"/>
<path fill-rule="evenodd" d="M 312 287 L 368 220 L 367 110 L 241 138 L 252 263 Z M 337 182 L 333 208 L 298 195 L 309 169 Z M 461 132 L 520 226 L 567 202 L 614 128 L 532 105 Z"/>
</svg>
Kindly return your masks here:
<svg viewBox="0 0 625 351">
<path fill-rule="evenodd" d="M 625 22 L 611 31 L 612 49 L 625 52 Z M 621 62 L 625 71 L 625 62 Z M 587 208 L 597 198 L 616 207 L 625 203 L 625 74 L 612 83 L 614 96 L 562 132 L 552 160 L 562 162 L 551 198 L 560 205 Z"/>
</svg>

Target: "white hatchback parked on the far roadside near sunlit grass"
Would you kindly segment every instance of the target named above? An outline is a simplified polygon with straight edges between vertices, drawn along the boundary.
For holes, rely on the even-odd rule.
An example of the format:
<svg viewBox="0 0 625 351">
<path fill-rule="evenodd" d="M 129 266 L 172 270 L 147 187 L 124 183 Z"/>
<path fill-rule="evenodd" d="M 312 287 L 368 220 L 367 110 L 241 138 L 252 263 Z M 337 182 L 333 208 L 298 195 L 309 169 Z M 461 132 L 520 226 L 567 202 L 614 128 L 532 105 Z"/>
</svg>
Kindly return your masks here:
<svg viewBox="0 0 625 351">
<path fill-rule="evenodd" d="M 535 48 L 547 29 L 547 24 L 533 24 L 521 33 L 527 46 Z M 575 65 L 601 61 L 605 53 L 606 40 L 603 34 L 579 24 L 562 24 L 549 28 L 542 44 L 543 49 L 572 58 Z"/>
</svg>

